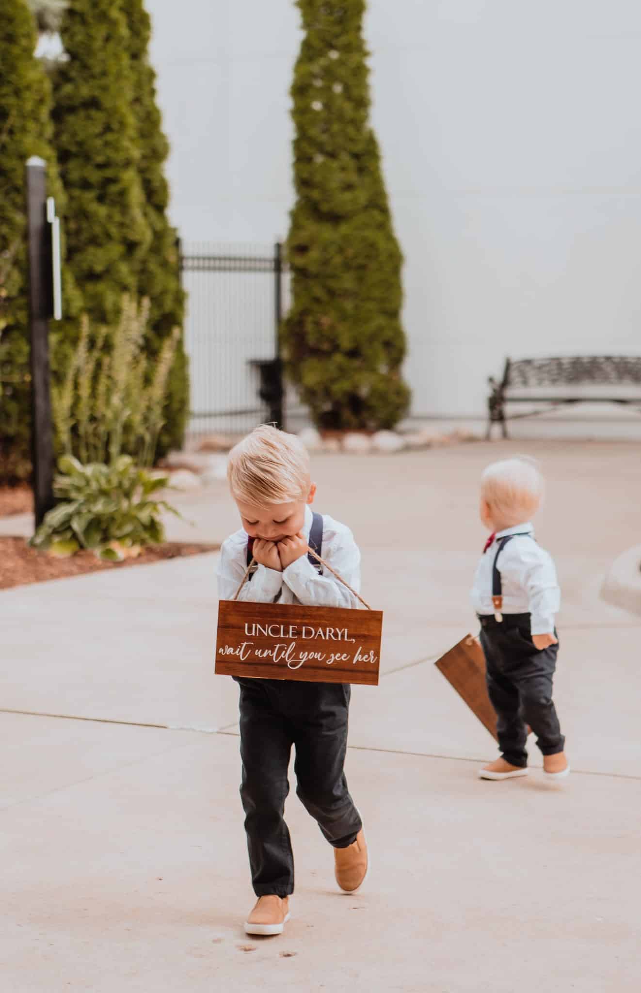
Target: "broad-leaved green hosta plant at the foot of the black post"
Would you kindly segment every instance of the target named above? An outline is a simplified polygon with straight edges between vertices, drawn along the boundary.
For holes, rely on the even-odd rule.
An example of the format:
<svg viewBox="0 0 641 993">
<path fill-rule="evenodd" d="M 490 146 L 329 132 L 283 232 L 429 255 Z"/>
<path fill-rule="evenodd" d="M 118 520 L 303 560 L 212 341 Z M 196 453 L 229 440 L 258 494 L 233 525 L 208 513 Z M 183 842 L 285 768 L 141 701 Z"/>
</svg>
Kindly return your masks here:
<svg viewBox="0 0 641 993">
<path fill-rule="evenodd" d="M 59 469 L 54 485 L 59 503 L 45 516 L 33 547 L 60 556 L 88 548 L 98 558 L 120 562 L 165 540 L 162 511 L 178 514 L 158 498 L 167 476 L 140 469 L 128 455 L 111 465 L 82 465 L 65 455 Z"/>
</svg>

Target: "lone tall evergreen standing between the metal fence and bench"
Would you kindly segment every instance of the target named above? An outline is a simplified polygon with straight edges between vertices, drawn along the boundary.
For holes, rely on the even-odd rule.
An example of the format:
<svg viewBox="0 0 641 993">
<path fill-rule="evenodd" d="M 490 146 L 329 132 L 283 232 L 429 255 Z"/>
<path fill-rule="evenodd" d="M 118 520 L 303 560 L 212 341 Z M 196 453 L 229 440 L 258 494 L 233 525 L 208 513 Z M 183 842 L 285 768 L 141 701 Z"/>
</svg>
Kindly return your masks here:
<svg viewBox="0 0 641 993">
<path fill-rule="evenodd" d="M 365 3 L 297 3 L 305 37 L 292 85 L 286 368 L 321 427 L 389 428 L 410 394 L 401 378 L 402 256 L 368 123 Z"/>
</svg>

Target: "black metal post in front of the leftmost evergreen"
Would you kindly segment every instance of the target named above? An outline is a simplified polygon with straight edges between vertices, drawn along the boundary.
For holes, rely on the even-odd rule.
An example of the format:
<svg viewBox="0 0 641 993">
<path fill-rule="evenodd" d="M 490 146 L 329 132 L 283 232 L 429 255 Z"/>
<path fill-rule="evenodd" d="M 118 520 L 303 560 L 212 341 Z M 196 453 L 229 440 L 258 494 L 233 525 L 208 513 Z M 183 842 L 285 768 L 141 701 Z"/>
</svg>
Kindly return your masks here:
<svg viewBox="0 0 641 993">
<path fill-rule="evenodd" d="M 52 242 L 47 220 L 47 164 L 27 162 L 29 320 L 31 325 L 32 457 L 36 526 L 54 506 L 54 428 L 50 396 L 49 321 Z"/>
</svg>

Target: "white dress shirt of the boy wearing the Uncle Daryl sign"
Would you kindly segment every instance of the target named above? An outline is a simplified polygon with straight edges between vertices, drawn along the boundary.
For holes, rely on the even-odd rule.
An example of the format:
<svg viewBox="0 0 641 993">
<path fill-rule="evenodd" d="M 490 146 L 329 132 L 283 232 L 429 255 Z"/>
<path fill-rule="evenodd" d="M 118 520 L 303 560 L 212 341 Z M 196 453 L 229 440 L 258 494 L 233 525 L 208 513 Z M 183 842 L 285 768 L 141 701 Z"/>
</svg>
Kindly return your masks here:
<svg viewBox="0 0 641 993">
<path fill-rule="evenodd" d="M 310 540 L 314 514 L 305 508 L 303 533 Z M 322 516 L 321 558 L 360 593 L 360 552 L 345 524 L 326 514 Z M 222 543 L 218 562 L 218 596 L 233 600 L 247 568 L 247 532 L 236 531 Z M 347 607 L 361 604 L 334 576 L 321 576 L 307 555 L 288 565 L 283 572 L 258 565 L 240 591 L 238 600 L 253 603 L 303 604 L 306 607 Z"/>
</svg>

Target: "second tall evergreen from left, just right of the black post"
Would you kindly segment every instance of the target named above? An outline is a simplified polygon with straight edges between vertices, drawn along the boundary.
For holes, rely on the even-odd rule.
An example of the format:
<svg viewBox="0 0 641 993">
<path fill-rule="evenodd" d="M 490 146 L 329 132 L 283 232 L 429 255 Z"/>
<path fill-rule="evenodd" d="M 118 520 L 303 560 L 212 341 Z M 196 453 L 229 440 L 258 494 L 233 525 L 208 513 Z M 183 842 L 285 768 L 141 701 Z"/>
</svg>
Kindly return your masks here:
<svg viewBox="0 0 641 993">
<path fill-rule="evenodd" d="M 120 0 L 69 0 L 61 38 L 67 58 L 55 74 L 54 124 L 68 198 L 68 265 L 89 316 L 113 324 L 123 293 L 138 293 L 152 236 Z"/>
</svg>

